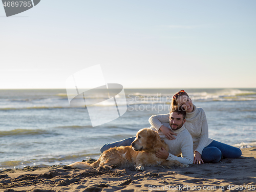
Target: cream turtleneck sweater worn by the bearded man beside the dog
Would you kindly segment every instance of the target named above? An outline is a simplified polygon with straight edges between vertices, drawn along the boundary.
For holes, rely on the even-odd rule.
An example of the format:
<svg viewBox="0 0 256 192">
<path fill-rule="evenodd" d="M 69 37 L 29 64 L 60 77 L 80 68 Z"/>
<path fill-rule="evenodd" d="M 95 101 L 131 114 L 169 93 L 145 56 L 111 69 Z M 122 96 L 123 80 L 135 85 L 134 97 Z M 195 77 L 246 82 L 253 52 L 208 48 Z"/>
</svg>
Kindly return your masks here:
<svg viewBox="0 0 256 192">
<path fill-rule="evenodd" d="M 163 125 L 168 127 L 170 130 L 169 123 L 164 123 Z M 150 127 L 153 131 L 157 131 L 153 126 Z M 176 133 L 174 137 L 176 139 L 169 140 L 165 137 L 161 130 L 158 130 L 158 134 L 162 140 L 164 140 L 169 146 L 169 156 L 167 160 L 177 160 L 183 164 L 192 164 L 194 160 L 193 154 L 193 139 L 189 132 L 185 129 L 183 125 L 179 130 L 172 130 L 172 132 Z M 177 157 L 182 154 L 182 157 Z"/>
</svg>

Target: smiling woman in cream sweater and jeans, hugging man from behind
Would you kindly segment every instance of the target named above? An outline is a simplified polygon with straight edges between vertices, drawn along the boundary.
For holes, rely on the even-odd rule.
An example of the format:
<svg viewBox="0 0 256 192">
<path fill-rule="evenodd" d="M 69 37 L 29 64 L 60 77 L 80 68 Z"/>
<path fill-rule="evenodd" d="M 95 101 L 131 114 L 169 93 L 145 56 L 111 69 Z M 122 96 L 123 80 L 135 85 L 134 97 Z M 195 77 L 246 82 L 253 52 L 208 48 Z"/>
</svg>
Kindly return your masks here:
<svg viewBox="0 0 256 192">
<path fill-rule="evenodd" d="M 173 96 L 172 106 L 179 105 L 186 111 L 185 128 L 193 138 L 194 163 L 217 163 L 222 156 L 225 158 L 239 158 L 240 148 L 233 147 L 208 138 L 208 124 L 204 110 L 194 105 L 184 90 Z M 174 133 L 161 122 L 169 122 L 169 114 L 153 115 L 150 124 L 161 130 L 166 138 L 173 139 Z"/>
</svg>

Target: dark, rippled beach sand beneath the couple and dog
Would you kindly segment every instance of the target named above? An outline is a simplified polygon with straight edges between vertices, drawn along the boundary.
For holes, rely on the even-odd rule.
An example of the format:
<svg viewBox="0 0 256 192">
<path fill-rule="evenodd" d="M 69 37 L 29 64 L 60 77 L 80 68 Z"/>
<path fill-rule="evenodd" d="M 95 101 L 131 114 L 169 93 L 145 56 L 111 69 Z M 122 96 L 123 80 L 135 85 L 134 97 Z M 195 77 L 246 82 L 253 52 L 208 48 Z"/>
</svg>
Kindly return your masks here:
<svg viewBox="0 0 256 192">
<path fill-rule="evenodd" d="M 256 191 L 256 147 L 239 159 L 181 167 L 87 170 L 67 166 L 25 167 L 0 172 L 1 191 Z M 255 188 L 254 188 L 255 187 Z"/>
</svg>

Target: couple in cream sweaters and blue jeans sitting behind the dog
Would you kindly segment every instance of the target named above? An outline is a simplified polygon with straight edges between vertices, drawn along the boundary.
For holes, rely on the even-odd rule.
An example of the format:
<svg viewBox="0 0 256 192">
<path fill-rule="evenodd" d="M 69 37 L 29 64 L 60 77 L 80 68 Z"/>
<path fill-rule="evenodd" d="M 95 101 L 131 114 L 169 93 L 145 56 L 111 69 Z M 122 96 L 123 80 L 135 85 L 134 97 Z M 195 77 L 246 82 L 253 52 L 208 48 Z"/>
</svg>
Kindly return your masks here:
<svg viewBox="0 0 256 192">
<path fill-rule="evenodd" d="M 217 163 L 222 157 L 239 158 L 242 152 L 208 137 L 208 124 L 204 110 L 194 105 L 184 90 L 176 93 L 169 114 L 153 115 L 150 129 L 157 131 L 161 139 L 169 145 L 156 152 L 158 158 L 178 160 L 184 164 Z M 136 137 L 108 143 L 100 148 L 102 153 L 111 147 L 128 146 Z M 194 153 L 193 153 L 194 152 Z M 182 157 L 178 157 L 182 154 Z M 194 155 L 194 156 L 193 156 Z"/>
</svg>

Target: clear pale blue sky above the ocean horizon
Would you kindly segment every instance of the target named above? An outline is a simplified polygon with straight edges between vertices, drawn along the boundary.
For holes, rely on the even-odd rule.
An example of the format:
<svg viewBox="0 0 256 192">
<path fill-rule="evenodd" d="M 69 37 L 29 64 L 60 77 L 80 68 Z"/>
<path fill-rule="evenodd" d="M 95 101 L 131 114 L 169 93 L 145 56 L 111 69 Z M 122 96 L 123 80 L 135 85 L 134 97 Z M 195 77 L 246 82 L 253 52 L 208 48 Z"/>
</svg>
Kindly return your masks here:
<svg viewBox="0 0 256 192">
<path fill-rule="evenodd" d="M 63 88 L 101 65 L 124 88 L 255 88 L 256 1 L 41 0 L 0 6 L 0 89 Z"/>
</svg>

